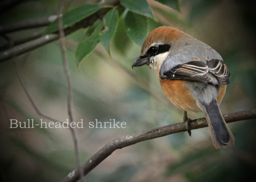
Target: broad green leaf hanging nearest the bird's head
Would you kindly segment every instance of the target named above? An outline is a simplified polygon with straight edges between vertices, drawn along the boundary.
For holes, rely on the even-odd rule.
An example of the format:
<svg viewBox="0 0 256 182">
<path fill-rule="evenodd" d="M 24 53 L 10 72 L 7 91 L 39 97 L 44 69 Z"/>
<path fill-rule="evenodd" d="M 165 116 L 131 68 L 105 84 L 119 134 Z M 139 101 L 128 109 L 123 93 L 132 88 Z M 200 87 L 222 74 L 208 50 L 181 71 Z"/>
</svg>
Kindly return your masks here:
<svg viewBox="0 0 256 182">
<path fill-rule="evenodd" d="M 142 47 L 147 36 L 147 18 L 129 11 L 125 16 L 124 23 L 128 36 Z"/>
</svg>

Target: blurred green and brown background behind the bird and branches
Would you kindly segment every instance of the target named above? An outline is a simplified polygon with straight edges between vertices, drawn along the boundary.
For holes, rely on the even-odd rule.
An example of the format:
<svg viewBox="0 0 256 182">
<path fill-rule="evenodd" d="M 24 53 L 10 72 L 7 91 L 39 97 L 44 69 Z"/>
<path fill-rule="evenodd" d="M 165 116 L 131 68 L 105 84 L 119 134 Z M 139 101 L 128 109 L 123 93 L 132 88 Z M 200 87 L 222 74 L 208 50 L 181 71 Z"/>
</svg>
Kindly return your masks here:
<svg viewBox="0 0 256 182">
<path fill-rule="evenodd" d="M 0 14 L 9 24 L 56 14 L 56 0 L 23 0 Z M 68 1 L 67 10 L 93 0 Z M 180 0 L 181 13 L 148 0 L 158 23 L 177 27 L 207 43 L 223 58 L 231 73 L 220 105 L 223 114 L 256 108 L 256 1 Z M 44 28 L 11 33 L 14 38 Z M 112 58 L 101 44 L 76 66 L 75 50 L 86 29 L 67 36 L 76 128 L 81 163 L 106 143 L 131 133 L 180 123 L 183 111 L 165 98 L 158 76 L 147 66 L 131 69 L 140 55 L 118 21 L 111 44 Z M 0 43 L 6 40 L 0 37 Z M 67 93 L 58 41 L 16 58 L 34 102 L 42 113 L 68 119 Z M 11 60 L 0 63 L 0 175 L 4 181 L 60 181 L 76 168 L 71 133 L 65 128 L 10 128 L 10 119 L 27 122 L 40 117 L 26 96 Z M 188 112 L 191 119 L 203 113 Z M 126 122 L 126 128 L 89 128 L 89 122 Z M 251 181 L 256 173 L 255 120 L 228 124 L 235 146 L 216 150 L 208 128 L 176 133 L 114 151 L 86 177 L 86 182 Z"/>
</svg>

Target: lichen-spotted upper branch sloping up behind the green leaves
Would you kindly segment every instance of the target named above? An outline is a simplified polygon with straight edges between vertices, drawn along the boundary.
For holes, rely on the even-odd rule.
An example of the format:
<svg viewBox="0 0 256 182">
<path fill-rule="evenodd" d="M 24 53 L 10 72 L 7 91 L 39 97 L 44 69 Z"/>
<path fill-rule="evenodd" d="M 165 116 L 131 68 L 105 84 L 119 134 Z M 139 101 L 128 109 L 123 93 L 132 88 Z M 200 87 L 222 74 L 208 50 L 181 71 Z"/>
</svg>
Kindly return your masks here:
<svg viewBox="0 0 256 182">
<path fill-rule="evenodd" d="M 105 3 L 101 3 L 101 5 L 105 5 L 108 3 L 108 5 L 117 5 L 119 3 L 118 0 L 110 0 L 108 2 L 104 1 Z M 74 24 L 74 26 L 68 27 L 64 30 L 65 35 L 69 35 L 80 28 L 86 28 L 98 20 L 102 19 L 103 16 L 110 10 L 111 8 L 101 8 L 98 12 L 94 13 L 93 15 L 81 20 L 80 22 Z M 0 53 L 0 62 L 6 61 L 10 58 L 12 58 L 12 55 L 19 56 L 21 54 L 27 53 L 28 51 L 34 50 L 38 47 L 41 47 L 47 43 L 53 42 L 57 39 L 59 39 L 59 34 L 48 34 L 41 38 L 32 40 L 30 42 L 26 42 L 24 44 L 20 44 L 19 46 L 15 46 L 12 49 L 6 50 L 4 52 Z"/>
</svg>

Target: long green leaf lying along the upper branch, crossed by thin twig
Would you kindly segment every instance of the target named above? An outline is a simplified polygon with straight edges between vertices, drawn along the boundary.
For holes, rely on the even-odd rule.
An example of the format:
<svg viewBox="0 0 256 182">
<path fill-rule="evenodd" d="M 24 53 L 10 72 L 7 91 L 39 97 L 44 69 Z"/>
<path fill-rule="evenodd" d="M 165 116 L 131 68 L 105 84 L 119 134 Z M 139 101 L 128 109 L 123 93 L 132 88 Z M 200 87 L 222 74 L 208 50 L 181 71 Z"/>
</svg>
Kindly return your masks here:
<svg viewBox="0 0 256 182">
<path fill-rule="evenodd" d="M 63 28 L 67 28 L 74 25 L 82 19 L 87 18 L 93 13 L 99 11 L 99 9 L 101 9 L 101 6 L 99 5 L 86 4 L 65 13 L 62 17 Z M 45 33 L 49 34 L 52 32 L 56 32 L 58 30 L 58 21 L 55 20 L 54 22 L 49 24 L 49 26 L 45 30 Z"/>
</svg>

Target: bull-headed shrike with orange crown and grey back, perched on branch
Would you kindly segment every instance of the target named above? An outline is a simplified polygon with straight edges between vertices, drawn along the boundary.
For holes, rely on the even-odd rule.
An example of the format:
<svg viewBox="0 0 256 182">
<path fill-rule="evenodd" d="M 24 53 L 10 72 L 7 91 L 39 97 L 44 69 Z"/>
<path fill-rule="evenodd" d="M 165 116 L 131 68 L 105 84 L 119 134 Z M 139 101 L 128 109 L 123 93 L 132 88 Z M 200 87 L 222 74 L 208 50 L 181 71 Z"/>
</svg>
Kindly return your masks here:
<svg viewBox="0 0 256 182">
<path fill-rule="evenodd" d="M 230 72 L 217 51 L 177 28 L 161 26 L 146 37 L 132 68 L 143 65 L 158 74 L 166 97 L 184 110 L 189 136 L 187 111 L 203 111 L 214 147 L 234 146 L 234 136 L 219 108 Z"/>
</svg>

